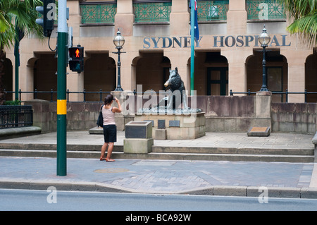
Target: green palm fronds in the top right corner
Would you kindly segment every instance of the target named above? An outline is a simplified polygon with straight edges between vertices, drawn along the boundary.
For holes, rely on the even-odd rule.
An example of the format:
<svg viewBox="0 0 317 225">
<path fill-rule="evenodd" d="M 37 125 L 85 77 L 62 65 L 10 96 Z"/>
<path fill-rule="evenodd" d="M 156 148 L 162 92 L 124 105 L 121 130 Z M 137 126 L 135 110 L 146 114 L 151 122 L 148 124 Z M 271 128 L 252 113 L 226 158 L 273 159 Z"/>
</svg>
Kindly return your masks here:
<svg viewBox="0 0 317 225">
<path fill-rule="evenodd" d="M 282 0 L 294 22 L 287 27 L 291 33 L 298 33 L 304 42 L 317 44 L 317 1 L 316 0 Z"/>
</svg>

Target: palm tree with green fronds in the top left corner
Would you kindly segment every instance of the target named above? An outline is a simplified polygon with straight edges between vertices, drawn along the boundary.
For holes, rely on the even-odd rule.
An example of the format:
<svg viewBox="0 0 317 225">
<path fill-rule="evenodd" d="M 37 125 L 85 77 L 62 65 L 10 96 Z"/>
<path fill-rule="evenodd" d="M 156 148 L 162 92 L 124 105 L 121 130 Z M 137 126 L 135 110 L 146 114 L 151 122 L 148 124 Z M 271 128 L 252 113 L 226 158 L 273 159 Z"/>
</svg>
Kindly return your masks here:
<svg viewBox="0 0 317 225">
<path fill-rule="evenodd" d="M 38 25 L 36 6 L 42 5 L 40 0 L 5 0 L 0 1 L 0 105 L 4 104 L 4 59 L 6 54 L 4 48 L 13 46 L 17 37 L 16 30 L 27 35 L 35 33 L 37 37 L 44 37 L 42 27 Z M 17 29 L 15 29 L 17 28 Z"/>
</svg>

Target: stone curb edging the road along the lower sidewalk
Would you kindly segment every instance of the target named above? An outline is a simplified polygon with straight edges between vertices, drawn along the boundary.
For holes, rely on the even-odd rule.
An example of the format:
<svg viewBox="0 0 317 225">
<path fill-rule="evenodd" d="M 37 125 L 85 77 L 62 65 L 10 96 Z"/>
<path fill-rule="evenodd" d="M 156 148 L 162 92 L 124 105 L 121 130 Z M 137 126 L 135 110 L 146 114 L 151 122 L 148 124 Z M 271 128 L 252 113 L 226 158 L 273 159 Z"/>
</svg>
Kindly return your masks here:
<svg viewBox="0 0 317 225">
<path fill-rule="evenodd" d="M 68 191 L 97 191 L 108 193 L 146 193 L 158 195 L 215 195 L 236 197 L 281 197 L 281 198 L 305 198 L 317 199 L 317 188 L 278 188 L 278 187 L 256 187 L 256 186 L 211 186 L 209 188 L 187 190 L 177 193 L 166 193 L 164 191 L 138 192 L 128 188 L 116 188 L 116 186 L 93 182 L 56 182 L 56 181 L 0 181 L 3 189 L 25 189 L 25 190 L 48 190 L 54 186 L 56 190 Z M 261 195 L 261 196 L 260 196 Z"/>
</svg>

